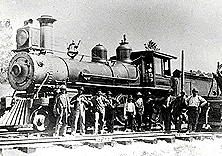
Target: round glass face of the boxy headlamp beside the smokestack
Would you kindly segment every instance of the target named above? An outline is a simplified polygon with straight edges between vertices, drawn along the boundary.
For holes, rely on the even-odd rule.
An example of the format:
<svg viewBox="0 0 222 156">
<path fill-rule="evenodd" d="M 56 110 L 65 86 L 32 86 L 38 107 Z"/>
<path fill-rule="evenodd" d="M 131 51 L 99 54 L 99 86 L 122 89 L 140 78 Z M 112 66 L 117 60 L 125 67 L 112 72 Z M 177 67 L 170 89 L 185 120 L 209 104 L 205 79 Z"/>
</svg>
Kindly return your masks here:
<svg viewBox="0 0 222 156">
<path fill-rule="evenodd" d="M 16 42 L 18 46 L 23 46 L 29 39 L 29 33 L 25 29 L 19 29 L 16 34 Z"/>
</svg>

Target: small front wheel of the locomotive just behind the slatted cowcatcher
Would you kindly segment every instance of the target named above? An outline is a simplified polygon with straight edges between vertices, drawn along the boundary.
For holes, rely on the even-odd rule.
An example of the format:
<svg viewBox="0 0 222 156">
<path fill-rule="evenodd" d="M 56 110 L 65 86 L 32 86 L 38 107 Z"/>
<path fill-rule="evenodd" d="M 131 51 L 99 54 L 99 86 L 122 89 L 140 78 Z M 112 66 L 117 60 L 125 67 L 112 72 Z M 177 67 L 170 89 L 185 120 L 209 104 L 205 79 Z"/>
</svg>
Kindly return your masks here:
<svg viewBox="0 0 222 156">
<path fill-rule="evenodd" d="M 35 131 L 46 131 L 50 127 L 49 114 L 45 110 L 36 110 L 32 114 L 32 124 Z"/>
</svg>

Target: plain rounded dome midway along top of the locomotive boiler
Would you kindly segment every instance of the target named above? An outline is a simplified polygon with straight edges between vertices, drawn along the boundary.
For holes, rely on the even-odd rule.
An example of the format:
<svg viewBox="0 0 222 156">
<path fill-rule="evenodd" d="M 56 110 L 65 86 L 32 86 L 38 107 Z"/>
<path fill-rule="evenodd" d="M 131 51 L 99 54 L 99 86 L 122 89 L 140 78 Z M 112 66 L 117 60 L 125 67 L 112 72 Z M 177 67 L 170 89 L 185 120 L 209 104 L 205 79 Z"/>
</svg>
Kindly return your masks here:
<svg viewBox="0 0 222 156">
<path fill-rule="evenodd" d="M 107 61 L 107 49 L 98 44 L 92 49 L 92 62 L 105 63 Z"/>
</svg>

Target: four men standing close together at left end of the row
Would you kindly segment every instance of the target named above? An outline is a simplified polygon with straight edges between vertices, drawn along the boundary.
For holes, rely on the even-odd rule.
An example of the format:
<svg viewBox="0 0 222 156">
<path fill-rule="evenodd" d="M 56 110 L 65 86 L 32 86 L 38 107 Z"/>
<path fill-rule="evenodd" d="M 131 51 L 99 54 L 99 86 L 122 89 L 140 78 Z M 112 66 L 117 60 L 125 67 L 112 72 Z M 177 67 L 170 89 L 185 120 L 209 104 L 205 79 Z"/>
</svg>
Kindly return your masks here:
<svg viewBox="0 0 222 156">
<path fill-rule="evenodd" d="M 85 134 L 85 111 L 91 107 L 95 115 L 94 134 L 103 133 L 105 112 L 107 108 L 107 128 L 108 132 L 113 133 L 114 129 L 114 112 L 117 100 L 112 97 L 110 91 L 105 96 L 101 90 L 98 90 L 90 100 L 83 94 L 84 87 L 78 89 L 77 95 L 69 100 L 66 94 L 66 86 L 59 87 L 60 92 L 55 97 L 53 113 L 56 116 L 55 136 L 65 136 L 68 116 L 71 115 L 71 135 L 75 136 L 77 124 L 80 124 L 80 135 Z"/>
</svg>

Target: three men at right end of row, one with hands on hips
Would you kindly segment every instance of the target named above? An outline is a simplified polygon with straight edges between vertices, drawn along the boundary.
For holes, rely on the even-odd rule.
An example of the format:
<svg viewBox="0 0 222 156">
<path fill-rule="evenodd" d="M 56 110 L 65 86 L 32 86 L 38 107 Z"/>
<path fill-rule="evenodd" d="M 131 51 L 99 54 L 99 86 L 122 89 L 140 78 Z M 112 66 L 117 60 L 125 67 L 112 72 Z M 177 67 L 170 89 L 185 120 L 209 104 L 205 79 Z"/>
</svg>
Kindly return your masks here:
<svg viewBox="0 0 222 156">
<path fill-rule="evenodd" d="M 207 104 L 207 101 L 198 95 L 198 90 L 193 88 L 192 95 L 187 96 L 184 91 L 180 96 L 173 96 L 173 90 L 169 90 L 163 100 L 162 116 L 165 132 L 170 133 L 171 121 L 175 124 L 175 129 L 181 131 L 181 123 L 184 118 L 184 112 L 188 116 L 188 132 L 195 132 L 201 108 Z"/>
</svg>

